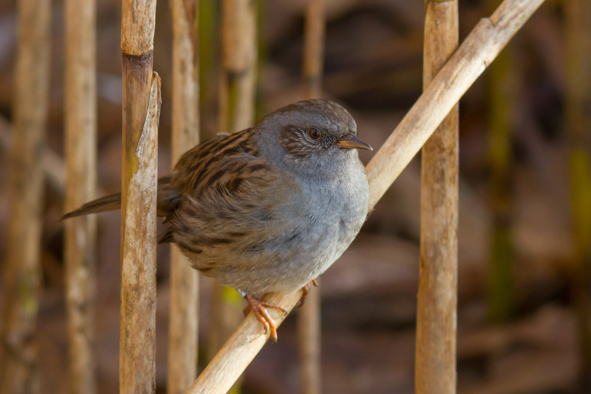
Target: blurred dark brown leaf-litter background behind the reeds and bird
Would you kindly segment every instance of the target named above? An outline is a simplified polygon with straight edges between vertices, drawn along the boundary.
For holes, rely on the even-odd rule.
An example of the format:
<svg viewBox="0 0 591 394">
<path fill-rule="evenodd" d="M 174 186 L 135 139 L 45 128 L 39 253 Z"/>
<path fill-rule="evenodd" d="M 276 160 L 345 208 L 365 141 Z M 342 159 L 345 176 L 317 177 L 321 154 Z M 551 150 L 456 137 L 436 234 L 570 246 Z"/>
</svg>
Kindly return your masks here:
<svg viewBox="0 0 591 394">
<path fill-rule="evenodd" d="M 460 42 L 498 4 L 461 0 Z M 591 54 L 569 44 L 569 37 L 583 40 L 590 33 L 589 25 L 581 32 L 569 30 L 568 6 L 569 1 L 546 1 L 460 101 L 459 393 L 591 392 L 584 385 L 591 379 L 585 246 L 591 239 L 575 236 L 580 217 L 573 216 L 573 211 L 588 210 L 591 201 L 583 201 L 582 207 L 572 203 L 580 201 L 572 197 L 577 185 L 584 188 L 589 179 L 576 175 L 570 164 L 573 152 L 582 152 L 589 164 L 591 129 L 575 132 L 581 125 L 572 119 L 586 116 L 588 121 L 591 91 L 576 96 L 571 90 L 583 83 L 577 76 L 591 77 L 584 71 Z M 258 1 L 257 119 L 303 97 L 305 7 L 304 0 Z M 200 12 L 205 139 L 217 132 L 219 4 L 202 1 Z M 423 16 L 424 2 L 418 0 L 327 1 L 323 97 L 345 106 L 358 122 L 359 135 L 374 148 L 420 96 Z M 46 133 L 51 176 L 45 190 L 43 295 L 37 322 L 41 390 L 47 393 L 67 389 L 63 226 L 57 222 L 64 204 L 63 18 L 63 4 L 56 0 Z M 16 23 L 15 1 L 3 0 L 0 168 L 8 168 L 11 145 Z M 98 1 L 97 27 L 98 193 L 107 194 L 121 185 L 121 2 Z M 587 65 L 572 66 L 573 56 L 586 58 Z M 171 16 L 165 0 L 157 5 L 154 70 L 162 78 L 158 172 L 164 175 L 170 171 L 171 119 Z M 580 107 L 586 112 L 582 118 L 569 113 L 579 108 L 569 104 L 573 95 L 587 103 Z M 360 152 L 362 161 L 366 164 L 373 153 Z M 7 180 L 7 171 L 0 171 L 1 258 L 7 248 Z M 375 207 L 353 245 L 322 276 L 324 393 L 413 392 L 419 196 L 417 157 Z M 100 392 L 118 390 L 119 232 L 119 212 L 100 214 Z M 165 389 L 167 363 L 168 248 L 158 246 L 158 392 Z M 212 282 L 202 278 L 201 284 L 203 367 Z M 242 392 L 298 392 L 295 316 L 281 325 L 278 343 L 265 345 L 246 369 Z"/>
</svg>

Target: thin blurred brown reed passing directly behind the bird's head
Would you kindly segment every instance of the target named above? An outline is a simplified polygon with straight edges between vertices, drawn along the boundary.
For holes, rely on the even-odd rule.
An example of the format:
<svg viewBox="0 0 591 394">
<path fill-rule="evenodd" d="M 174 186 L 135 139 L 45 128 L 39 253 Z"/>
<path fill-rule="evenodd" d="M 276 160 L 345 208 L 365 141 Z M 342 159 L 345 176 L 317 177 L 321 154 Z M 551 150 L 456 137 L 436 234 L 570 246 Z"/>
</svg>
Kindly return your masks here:
<svg viewBox="0 0 591 394">
<path fill-rule="evenodd" d="M 304 98 L 322 96 L 324 60 L 324 0 L 308 0 L 304 27 Z M 322 391 L 320 363 L 321 324 L 320 291 L 310 289 L 306 305 L 298 316 L 298 347 L 300 353 L 300 391 L 319 394 Z"/>
</svg>

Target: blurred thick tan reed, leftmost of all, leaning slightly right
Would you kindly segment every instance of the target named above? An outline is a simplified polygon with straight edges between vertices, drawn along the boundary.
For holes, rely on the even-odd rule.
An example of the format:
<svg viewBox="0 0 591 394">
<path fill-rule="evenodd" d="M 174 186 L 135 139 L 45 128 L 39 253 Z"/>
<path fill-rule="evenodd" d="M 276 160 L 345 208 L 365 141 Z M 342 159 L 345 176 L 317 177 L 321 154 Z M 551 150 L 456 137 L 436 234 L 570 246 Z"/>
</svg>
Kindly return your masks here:
<svg viewBox="0 0 591 394">
<path fill-rule="evenodd" d="M 0 393 L 38 392 L 35 324 L 40 293 L 44 128 L 49 93 L 50 0 L 20 0 L 15 73 L 14 145 L 4 314 L 0 348 Z"/>
</svg>

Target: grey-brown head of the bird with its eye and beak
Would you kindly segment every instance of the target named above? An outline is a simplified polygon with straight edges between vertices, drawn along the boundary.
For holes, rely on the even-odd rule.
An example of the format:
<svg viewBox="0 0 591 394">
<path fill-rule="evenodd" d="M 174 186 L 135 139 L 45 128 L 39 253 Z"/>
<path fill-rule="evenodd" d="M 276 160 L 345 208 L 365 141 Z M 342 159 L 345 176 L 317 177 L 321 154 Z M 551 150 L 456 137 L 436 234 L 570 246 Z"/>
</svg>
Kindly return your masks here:
<svg viewBox="0 0 591 394">
<path fill-rule="evenodd" d="M 357 137 L 351 114 L 326 99 L 299 101 L 265 116 L 256 125 L 256 145 L 273 164 L 315 177 L 358 162 L 356 149 L 372 149 Z"/>
</svg>

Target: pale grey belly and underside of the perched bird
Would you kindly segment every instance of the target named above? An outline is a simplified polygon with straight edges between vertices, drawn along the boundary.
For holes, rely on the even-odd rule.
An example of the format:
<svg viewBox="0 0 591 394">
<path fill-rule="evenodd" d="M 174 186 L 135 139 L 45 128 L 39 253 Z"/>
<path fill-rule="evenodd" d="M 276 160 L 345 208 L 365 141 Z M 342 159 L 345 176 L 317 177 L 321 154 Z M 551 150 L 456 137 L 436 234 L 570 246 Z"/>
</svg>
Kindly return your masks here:
<svg viewBox="0 0 591 394">
<path fill-rule="evenodd" d="M 210 261 L 207 253 L 189 258 L 195 268 L 221 285 L 254 293 L 293 292 L 345 252 L 365 221 L 367 201 L 367 188 L 325 194 L 292 219 L 294 226 L 279 237 L 282 242 L 267 242 L 257 253 L 238 248 Z"/>
</svg>

